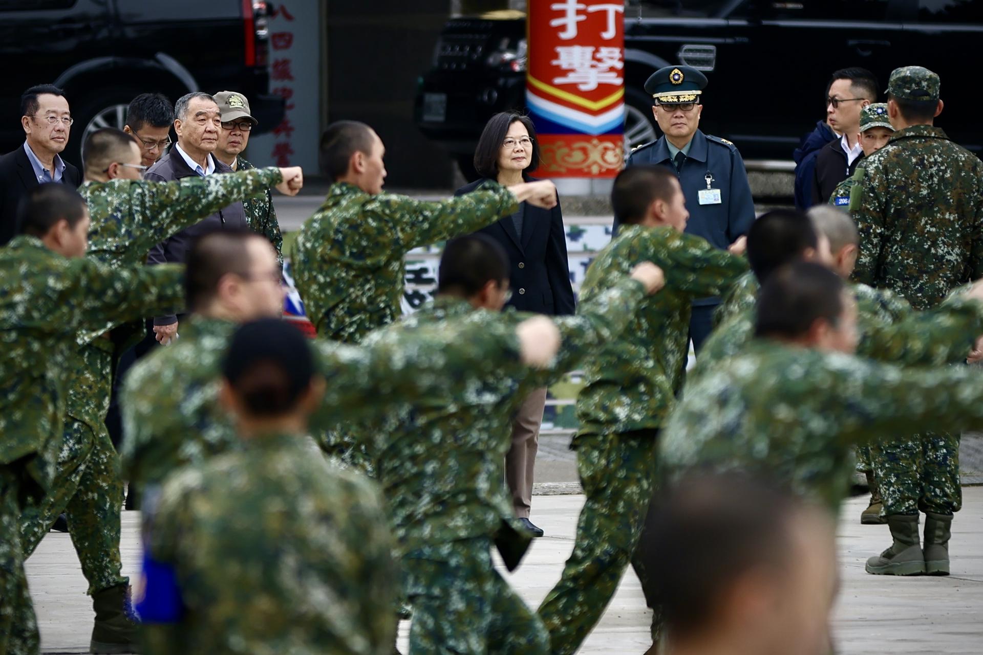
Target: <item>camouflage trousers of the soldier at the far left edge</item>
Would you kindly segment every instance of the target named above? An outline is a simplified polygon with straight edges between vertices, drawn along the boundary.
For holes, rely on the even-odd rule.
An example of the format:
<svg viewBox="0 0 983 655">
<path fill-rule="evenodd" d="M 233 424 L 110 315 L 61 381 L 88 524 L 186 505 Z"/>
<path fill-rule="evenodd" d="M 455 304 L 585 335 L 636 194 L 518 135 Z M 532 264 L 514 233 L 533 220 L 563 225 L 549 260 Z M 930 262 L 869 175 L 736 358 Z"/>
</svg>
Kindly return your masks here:
<svg viewBox="0 0 983 655">
<path fill-rule="evenodd" d="M 0 654 L 36 655 L 41 641 L 17 529 L 20 476 L 14 466 L 0 464 Z"/>
</svg>

